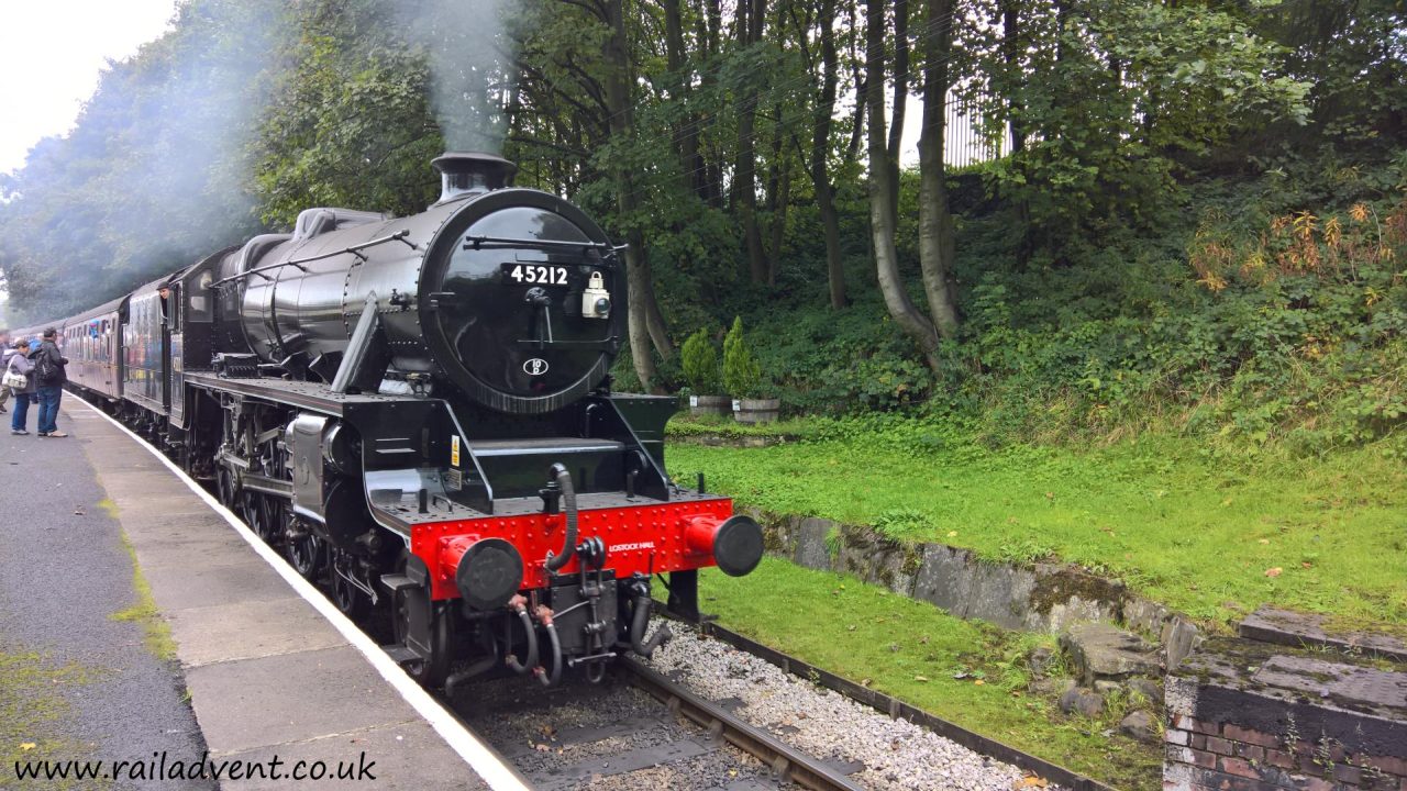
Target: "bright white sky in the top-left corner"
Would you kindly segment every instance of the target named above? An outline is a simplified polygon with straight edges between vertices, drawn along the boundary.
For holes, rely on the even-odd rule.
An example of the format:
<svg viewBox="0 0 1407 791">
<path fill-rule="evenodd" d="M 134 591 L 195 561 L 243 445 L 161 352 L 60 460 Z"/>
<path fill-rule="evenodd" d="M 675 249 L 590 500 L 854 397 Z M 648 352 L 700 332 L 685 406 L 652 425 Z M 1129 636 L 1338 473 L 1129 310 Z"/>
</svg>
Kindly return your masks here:
<svg viewBox="0 0 1407 791">
<path fill-rule="evenodd" d="M 0 0 L 0 173 L 73 128 L 107 61 L 167 28 L 176 0 Z"/>
</svg>

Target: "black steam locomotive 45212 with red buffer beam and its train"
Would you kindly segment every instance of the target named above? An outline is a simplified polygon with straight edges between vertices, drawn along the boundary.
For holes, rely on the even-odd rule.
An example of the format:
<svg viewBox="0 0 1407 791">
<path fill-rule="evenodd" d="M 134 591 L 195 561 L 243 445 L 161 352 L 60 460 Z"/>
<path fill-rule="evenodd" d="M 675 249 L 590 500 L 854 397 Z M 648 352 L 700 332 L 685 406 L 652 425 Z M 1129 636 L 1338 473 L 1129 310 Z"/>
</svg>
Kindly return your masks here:
<svg viewBox="0 0 1407 791">
<path fill-rule="evenodd" d="M 750 573 L 761 529 L 668 477 L 673 398 L 611 391 L 628 300 L 605 232 L 499 156 L 433 166 L 422 214 L 310 208 L 62 321 L 70 384 L 339 609 L 388 614 L 422 684 L 599 680 L 668 639 L 653 580 L 696 618 L 698 570 Z"/>
</svg>

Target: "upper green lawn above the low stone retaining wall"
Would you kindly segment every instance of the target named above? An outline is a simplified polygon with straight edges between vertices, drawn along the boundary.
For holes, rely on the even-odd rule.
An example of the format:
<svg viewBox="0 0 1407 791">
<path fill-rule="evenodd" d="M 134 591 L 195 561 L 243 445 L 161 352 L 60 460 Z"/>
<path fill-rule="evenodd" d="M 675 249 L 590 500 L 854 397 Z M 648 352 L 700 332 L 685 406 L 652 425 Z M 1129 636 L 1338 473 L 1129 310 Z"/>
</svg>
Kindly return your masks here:
<svg viewBox="0 0 1407 791">
<path fill-rule="evenodd" d="M 1093 449 L 988 449 L 922 426 L 808 436 L 675 442 L 668 467 L 778 514 L 988 559 L 1081 563 L 1204 624 L 1273 602 L 1407 625 L 1407 469 L 1375 448 L 1299 460 L 1211 453 L 1168 434 Z"/>
</svg>

